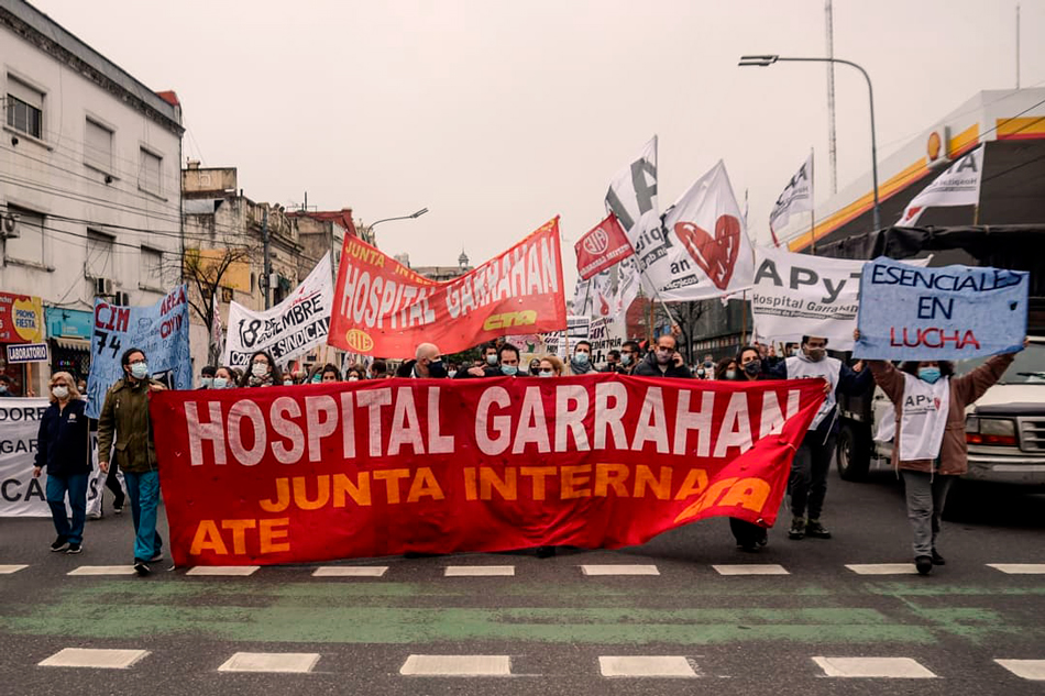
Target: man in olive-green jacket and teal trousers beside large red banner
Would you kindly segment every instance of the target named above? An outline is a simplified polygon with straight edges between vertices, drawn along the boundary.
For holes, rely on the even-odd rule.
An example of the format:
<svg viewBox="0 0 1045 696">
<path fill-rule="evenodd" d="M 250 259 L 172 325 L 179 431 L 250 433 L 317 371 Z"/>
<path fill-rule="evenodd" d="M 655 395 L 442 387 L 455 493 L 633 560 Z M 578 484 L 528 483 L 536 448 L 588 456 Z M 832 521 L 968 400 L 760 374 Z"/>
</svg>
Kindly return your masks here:
<svg viewBox="0 0 1045 696">
<path fill-rule="evenodd" d="M 148 564 L 163 560 L 163 540 L 156 531 L 160 467 L 148 416 L 148 394 L 165 389 L 148 378 L 145 353 L 131 349 L 120 360 L 123 378 L 106 394 L 98 419 L 98 465 L 109 471 L 109 453 L 123 472 L 134 518 L 134 571 L 148 575 Z"/>
</svg>

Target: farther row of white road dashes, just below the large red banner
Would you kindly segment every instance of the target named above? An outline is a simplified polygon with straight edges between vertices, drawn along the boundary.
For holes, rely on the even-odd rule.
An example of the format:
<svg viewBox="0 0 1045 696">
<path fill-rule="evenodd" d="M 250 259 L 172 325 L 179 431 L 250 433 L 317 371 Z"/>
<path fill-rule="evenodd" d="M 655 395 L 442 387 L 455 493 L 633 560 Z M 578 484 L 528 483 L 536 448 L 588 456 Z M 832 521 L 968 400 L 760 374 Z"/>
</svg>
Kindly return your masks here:
<svg viewBox="0 0 1045 696">
<path fill-rule="evenodd" d="M 1005 575 L 1045 575 L 1045 563 L 986 563 L 986 567 Z M 0 575 L 10 575 L 32 567 L 31 564 L 0 565 Z M 300 566 L 294 570 L 302 572 L 310 571 L 310 576 L 316 578 L 369 578 L 369 579 L 394 579 L 395 575 L 403 571 L 405 566 L 387 565 L 326 565 L 326 566 Z M 532 567 L 532 566 L 528 566 Z M 689 570 L 705 567 L 703 565 L 690 566 Z M 711 570 L 722 576 L 772 576 L 772 575 L 792 575 L 792 571 L 777 563 L 737 563 L 737 564 L 712 564 Z M 579 573 L 582 577 L 614 577 L 614 576 L 659 576 L 661 570 L 656 564 L 636 565 L 636 564 L 581 564 L 571 566 L 571 572 Z M 182 570 L 182 568 L 177 568 Z M 198 565 L 184 570 L 184 575 L 189 577 L 248 577 L 257 573 L 271 572 L 271 567 L 258 565 Z M 913 563 L 850 563 L 838 567 L 839 572 L 847 571 L 857 575 L 916 575 L 917 570 Z M 519 568 L 515 565 L 446 565 L 440 567 L 443 577 L 517 577 L 520 576 Z M 524 570 L 524 573 L 526 570 Z M 801 573 L 800 573 L 801 574 Z M 66 572 L 66 575 L 74 576 L 98 576 L 98 575 L 134 575 L 134 568 L 131 565 L 79 565 Z"/>
</svg>

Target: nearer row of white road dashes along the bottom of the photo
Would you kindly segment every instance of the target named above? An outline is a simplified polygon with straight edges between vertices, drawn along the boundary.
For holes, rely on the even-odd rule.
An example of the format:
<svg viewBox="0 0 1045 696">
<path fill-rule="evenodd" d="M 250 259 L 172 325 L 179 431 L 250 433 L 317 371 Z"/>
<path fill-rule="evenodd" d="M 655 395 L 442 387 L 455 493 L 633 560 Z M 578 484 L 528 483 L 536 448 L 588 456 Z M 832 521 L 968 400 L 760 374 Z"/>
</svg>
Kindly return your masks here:
<svg viewBox="0 0 1045 696">
<path fill-rule="evenodd" d="M 162 667 L 172 658 L 173 650 L 146 651 L 123 648 L 64 648 L 37 663 L 41 667 L 79 667 L 86 670 L 131 670 L 141 667 L 148 658 L 148 669 Z M 249 672 L 270 674 L 307 674 L 316 670 L 324 655 L 318 652 L 233 652 L 218 667 L 218 672 Z M 397 676 L 407 678 L 494 678 L 522 676 L 515 672 L 515 661 L 508 654 L 406 654 L 400 658 Z M 816 672 L 814 676 L 842 680 L 930 680 L 944 677 L 919 660 L 900 655 L 812 655 L 807 658 Z M 338 662 L 329 661 L 324 671 L 334 670 Z M 343 663 L 341 663 L 343 664 Z M 593 655 L 574 661 L 575 671 L 607 680 L 694 680 L 710 674 L 694 655 Z M 994 658 L 985 661 L 981 670 L 1003 670 L 1021 680 L 1045 682 L 1045 659 L 1015 660 Z M 999 676 L 1001 672 L 999 672 Z M 527 671 L 525 676 L 544 676 Z M 547 675 L 561 676 L 561 675 Z M 741 675 L 722 674 L 716 677 Z"/>
</svg>

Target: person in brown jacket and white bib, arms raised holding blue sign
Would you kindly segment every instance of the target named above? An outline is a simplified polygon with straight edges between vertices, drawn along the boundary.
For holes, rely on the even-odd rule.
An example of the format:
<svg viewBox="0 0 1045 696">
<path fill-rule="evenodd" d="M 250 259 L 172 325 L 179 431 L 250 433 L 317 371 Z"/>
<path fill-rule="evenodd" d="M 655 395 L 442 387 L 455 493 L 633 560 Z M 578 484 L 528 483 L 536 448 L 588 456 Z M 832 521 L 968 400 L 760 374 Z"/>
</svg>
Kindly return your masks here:
<svg viewBox="0 0 1045 696">
<path fill-rule="evenodd" d="M 854 336 L 859 341 L 860 332 Z M 994 355 L 960 377 L 947 361 L 906 362 L 899 369 L 886 361 L 868 362 L 897 412 L 892 464 L 903 473 L 914 565 L 922 575 L 946 563 L 936 540 L 947 493 L 969 468 L 966 408 L 1001 379 L 1014 358 L 1014 353 Z"/>
</svg>

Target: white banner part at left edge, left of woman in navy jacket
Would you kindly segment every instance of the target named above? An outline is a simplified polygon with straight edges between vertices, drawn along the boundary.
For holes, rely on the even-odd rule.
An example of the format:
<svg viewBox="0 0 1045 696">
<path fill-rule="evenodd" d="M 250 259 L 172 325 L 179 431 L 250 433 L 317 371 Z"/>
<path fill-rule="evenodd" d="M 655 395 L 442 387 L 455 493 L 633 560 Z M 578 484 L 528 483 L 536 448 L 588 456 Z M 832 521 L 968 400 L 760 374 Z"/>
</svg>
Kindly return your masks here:
<svg viewBox="0 0 1045 696">
<path fill-rule="evenodd" d="M 51 517 L 44 484 L 33 478 L 44 398 L 0 398 L 0 517 Z"/>
</svg>

